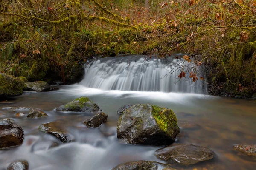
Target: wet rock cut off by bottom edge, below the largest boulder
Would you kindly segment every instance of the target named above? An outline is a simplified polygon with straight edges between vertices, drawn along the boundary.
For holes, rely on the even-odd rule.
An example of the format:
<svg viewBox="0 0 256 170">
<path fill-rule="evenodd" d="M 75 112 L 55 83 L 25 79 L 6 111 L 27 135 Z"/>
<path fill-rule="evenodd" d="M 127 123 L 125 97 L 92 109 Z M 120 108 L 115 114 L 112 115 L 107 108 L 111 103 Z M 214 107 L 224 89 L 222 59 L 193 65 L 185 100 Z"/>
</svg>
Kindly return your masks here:
<svg viewBox="0 0 256 170">
<path fill-rule="evenodd" d="M 131 161 L 119 164 L 112 170 L 157 170 L 158 164 L 155 161 Z"/>
</svg>

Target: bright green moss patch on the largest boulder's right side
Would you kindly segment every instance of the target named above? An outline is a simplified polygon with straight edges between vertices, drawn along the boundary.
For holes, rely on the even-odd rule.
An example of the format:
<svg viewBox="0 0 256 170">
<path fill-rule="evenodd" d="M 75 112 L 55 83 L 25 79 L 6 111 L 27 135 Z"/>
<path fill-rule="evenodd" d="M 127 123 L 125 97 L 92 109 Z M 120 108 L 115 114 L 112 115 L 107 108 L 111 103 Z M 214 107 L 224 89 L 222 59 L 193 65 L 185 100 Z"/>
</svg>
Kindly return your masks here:
<svg viewBox="0 0 256 170">
<path fill-rule="evenodd" d="M 179 131 L 177 117 L 172 109 L 164 109 L 156 105 L 152 105 L 152 107 L 153 117 L 163 132 L 172 135 L 175 131 Z"/>
</svg>

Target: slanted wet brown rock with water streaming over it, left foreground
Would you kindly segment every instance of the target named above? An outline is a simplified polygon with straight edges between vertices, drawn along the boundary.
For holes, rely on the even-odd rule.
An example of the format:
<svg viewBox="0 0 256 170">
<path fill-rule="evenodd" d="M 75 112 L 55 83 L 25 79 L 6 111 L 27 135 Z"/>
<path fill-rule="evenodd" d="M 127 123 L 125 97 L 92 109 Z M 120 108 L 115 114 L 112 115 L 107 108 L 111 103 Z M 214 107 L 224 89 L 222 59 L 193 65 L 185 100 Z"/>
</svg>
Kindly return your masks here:
<svg viewBox="0 0 256 170">
<path fill-rule="evenodd" d="M 61 142 L 72 142 L 74 141 L 74 137 L 67 132 L 64 127 L 64 122 L 55 121 L 50 123 L 42 124 L 38 127 L 39 130 L 51 134 L 59 139 Z"/>
</svg>

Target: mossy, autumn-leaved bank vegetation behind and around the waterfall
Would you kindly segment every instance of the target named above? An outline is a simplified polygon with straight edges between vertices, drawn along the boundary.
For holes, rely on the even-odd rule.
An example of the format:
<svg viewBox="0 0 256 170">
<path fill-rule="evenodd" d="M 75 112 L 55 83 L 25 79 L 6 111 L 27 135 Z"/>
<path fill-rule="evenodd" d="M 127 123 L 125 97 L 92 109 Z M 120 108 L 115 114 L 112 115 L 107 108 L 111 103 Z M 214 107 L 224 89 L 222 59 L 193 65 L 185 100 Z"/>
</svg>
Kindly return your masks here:
<svg viewBox="0 0 256 170">
<path fill-rule="evenodd" d="M 17 77 L 70 83 L 95 57 L 179 52 L 205 65 L 210 94 L 250 98 L 256 0 L 0 0 L 0 71 Z"/>
</svg>

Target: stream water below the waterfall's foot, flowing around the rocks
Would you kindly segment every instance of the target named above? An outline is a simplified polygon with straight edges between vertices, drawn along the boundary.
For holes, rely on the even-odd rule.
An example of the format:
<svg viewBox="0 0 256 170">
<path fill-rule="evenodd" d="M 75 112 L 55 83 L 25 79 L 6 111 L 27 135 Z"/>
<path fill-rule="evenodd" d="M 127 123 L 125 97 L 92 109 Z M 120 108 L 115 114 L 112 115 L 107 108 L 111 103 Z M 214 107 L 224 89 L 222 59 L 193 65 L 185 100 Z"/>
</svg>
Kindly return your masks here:
<svg viewBox="0 0 256 170">
<path fill-rule="evenodd" d="M 109 115 L 104 125 L 91 129 L 83 122 L 92 115 L 55 111 L 59 105 L 80 96 L 89 97 Z M 208 147 L 216 153 L 215 159 L 177 169 L 254 170 L 256 167 L 255 159 L 233 150 L 234 144 L 255 144 L 256 141 L 256 104 L 249 100 L 199 94 L 102 91 L 80 85 L 61 86 L 59 91 L 53 92 L 25 93 L 13 99 L 10 104 L 0 104 L 0 119 L 13 119 L 22 127 L 24 142 L 20 147 L 0 150 L 0 169 L 6 169 L 17 159 L 26 159 L 32 170 L 110 170 L 126 161 L 160 161 L 154 151 L 161 147 L 122 144 L 116 138 L 119 118 L 116 110 L 136 103 L 172 108 L 179 120 L 200 125 L 196 129 L 181 129 L 177 142 Z M 2 109 L 6 107 L 39 108 L 48 116 L 41 119 L 17 117 L 15 114 L 20 111 Z M 22 112 L 28 114 L 28 111 Z M 38 130 L 39 125 L 56 120 L 63 122 L 76 142 L 63 144 Z M 53 143 L 58 146 L 51 148 Z"/>
</svg>

